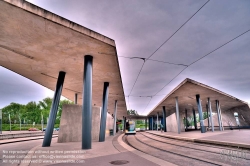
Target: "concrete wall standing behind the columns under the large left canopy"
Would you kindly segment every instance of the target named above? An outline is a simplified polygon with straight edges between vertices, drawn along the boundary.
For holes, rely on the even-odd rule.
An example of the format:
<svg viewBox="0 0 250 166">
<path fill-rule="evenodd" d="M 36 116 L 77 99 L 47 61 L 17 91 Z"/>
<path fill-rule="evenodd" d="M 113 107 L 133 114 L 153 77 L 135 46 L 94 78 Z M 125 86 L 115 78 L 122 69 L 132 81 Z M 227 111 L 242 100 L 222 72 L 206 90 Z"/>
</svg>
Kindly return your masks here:
<svg viewBox="0 0 250 166">
<path fill-rule="evenodd" d="M 106 137 L 112 129 L 113 119 L 107 113 Z M 92 140 L 99 140 L 100 107 L 92 107 Z M 62 109 L 58 142 L 80 142 L 82 140 L 82 106 L 65 104 Z"/>
</svg>

